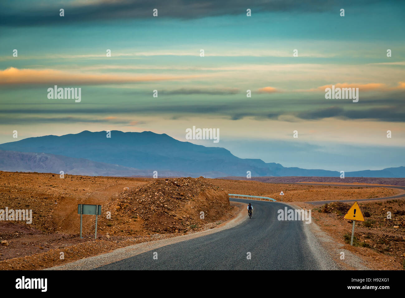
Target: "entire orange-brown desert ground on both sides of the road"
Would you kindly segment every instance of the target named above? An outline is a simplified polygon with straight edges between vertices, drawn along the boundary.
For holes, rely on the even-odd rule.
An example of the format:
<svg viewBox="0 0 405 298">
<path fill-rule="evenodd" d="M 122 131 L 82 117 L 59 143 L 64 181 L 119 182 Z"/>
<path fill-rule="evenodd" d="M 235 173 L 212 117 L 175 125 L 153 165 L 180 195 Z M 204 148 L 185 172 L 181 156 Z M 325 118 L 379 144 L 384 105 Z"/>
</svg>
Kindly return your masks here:
<svg viewBox="0 0 405 298">
<path fill-rule="evenodd" d="M 47 268 L 140 242 L 211 229 L 239 212 L 239 208 L 229 203 L 228 193 L 280 200 L 280 191 L 285 194 L 284 202 L 303 204 L 387 197 L 402 190 L 354 184 L 347 187 L 271 184 L 202 177 L 153 179 L 65 175 L 60 178 L 49 173 L 0 172 L 0 209 L 31 209 L 33 213 L 32 224 L 0 221 L 0 240 L 3 242 L 0 269 Z M 79 238 L 77 204 L 102 205 L 97 239 L 94 239 L 95 216 L 92 215 L 83 215 L 83 239 Z M 333 204 L 327 208 L 306 206 L 326 210 L 326 213 L 314 211 L 312 216 L 336 241 L 345 243 L 345 234 L 350 233 L 351 225 L 342 220 L 341 213 L 350 204 L 339 207 L 342 210 L 328 212 L 328 208 L 334 208 Z M 405 216 L 394 212 L 405 209 L 402 201 L 376 201 L 360 204 L 360 207 L 371 214 L 370 226 L 359 225 L 356 243 L 361 247 L 349 249 L 362 249 L 363 254 L 367 249 L 384 262 L 388 260 L 388 268 L 401 269 L 404 259 L 401 255 L 405 253 Z M 384 220 L 386 211 L 392 211 L 391 221 Z M 111 213 L 111 219 L 107 212 Z M 203 219 L 201 212 L 204 212 Z M 394 225 L 399 227 L 394 228 Z M 377 263 L 376 268 L 380 266 Z"/>
</svg>

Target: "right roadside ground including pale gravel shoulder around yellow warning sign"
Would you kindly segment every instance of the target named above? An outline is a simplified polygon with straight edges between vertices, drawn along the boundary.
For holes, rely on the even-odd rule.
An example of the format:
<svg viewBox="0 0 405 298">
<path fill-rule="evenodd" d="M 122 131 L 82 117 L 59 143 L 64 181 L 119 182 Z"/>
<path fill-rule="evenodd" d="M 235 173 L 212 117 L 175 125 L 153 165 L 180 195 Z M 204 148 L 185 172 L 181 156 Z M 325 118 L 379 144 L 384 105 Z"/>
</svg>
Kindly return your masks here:
<svg viewBox="0 0 405 298">
<path fill-rule="evenodd" d="M 403 232 L 405 215 L 401 215 L 405 205 L 403 200 L 359 202 L 362 212 L 367 212 L 368 217 L 365 217 L 365 222 L 356 222 L 353 246 L 350 245 L 352 223 L 343 218 L 352 203 L 330 203 L 328 208 L 333 208 L 330 213 L 325 211 L 327 208 L 324 206 L 318 208 L 308 203 L 296 204 L 301 206 L 300 208 L 312 209 L 312 224 L 309 226 L 313 234 L 335 262 L 344 269 L 403 270 L 405 268 L 405 234 Z M 339 207 L 337 204 L 340 204 Z M 340 208 L 343 207 L 345 209 L 341 210 Z M 392 212 L 392 219 L 387 219 L 386 211 Z"/>
</svg>

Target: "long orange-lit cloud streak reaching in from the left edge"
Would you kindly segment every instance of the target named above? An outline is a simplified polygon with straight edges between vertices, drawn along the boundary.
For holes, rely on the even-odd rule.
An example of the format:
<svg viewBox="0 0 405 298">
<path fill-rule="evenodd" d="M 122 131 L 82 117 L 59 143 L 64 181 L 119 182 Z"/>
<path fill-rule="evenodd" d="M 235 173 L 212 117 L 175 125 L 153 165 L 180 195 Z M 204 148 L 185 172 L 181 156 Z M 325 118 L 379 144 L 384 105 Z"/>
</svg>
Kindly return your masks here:
<svg viewBox="0 0 405 298">
<path fill-rule="evenodd" d="M 129 75 L 129 74 L 83 74 L 69 73 L 55 69 L 17 69 L 10 67 L 0 71 L 0 85 L 21 84 L 74 84 L 74 85 L 98 85 L 98 84 L 125 84 L 146 81 L 169 81 L 183 80 L 207 75 Z"/>
</svg>

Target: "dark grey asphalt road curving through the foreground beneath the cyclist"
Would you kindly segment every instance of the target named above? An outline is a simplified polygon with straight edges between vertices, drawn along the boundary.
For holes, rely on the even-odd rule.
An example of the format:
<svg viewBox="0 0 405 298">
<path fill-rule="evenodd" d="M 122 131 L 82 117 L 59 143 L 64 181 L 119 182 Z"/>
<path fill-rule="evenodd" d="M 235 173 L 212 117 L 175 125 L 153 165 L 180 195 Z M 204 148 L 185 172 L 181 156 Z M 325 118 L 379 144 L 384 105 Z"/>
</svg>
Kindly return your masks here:
<svg viewBox="0 0 405 298">
<path fill-rule="evenodd" d="M 304 221 L 277 220 L 277 210 L 286 204 L 232 201 L 252 202 L 252 219 L 231 229 L 160 247 L 94 270 L 337 269 L 316 238 L 307 232 Z M 155 252 L 157 259 L 153 259 Z M 248 253 L 251 259 L 247 259 Z"/>
</svg>

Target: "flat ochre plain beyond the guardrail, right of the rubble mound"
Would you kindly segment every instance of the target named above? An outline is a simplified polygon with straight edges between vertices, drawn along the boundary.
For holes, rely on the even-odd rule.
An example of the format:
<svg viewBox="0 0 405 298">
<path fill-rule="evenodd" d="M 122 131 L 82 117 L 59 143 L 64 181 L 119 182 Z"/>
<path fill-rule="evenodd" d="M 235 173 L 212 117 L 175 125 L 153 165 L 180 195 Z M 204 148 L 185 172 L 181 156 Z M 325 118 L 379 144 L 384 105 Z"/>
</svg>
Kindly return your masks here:
<svg viewBox="0 0 405 298">
<path fill-rule="evenodd" d="M 387 187 L 359 187 L 348 184 L 347 187 L 325 185 L 273 184 L 252 180 L 212 179 L 213 184 L 229 193 L 271 197 L 283 202 L 329 201 L 343 199 L 371 199 L 390 197 L 403 193 L 401 189 Z"/>
</svg>

